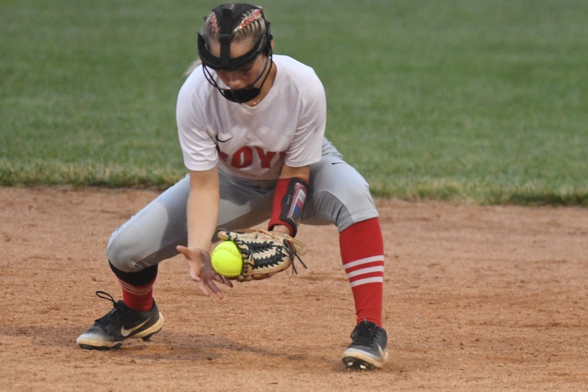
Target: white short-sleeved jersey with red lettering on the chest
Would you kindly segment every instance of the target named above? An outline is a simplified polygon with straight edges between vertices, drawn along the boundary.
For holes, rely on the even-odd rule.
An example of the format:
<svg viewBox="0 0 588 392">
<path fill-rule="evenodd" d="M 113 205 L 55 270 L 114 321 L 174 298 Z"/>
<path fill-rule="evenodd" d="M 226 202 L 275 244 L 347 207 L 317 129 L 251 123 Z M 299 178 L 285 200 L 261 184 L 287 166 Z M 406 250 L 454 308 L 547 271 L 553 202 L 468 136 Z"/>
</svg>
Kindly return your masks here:
<svg viewBox="0 0 588 392">
<path fill-rule="evenodd" d="M 277 179 L 283 164 L 318 162 L 325 134 L 325 89 L 309 66 L 274 55 L 277 73 L 256 106 L 230 102 L 206 81 L 202 65 L 178 94 L 176 120 L 184 164 L 236 177 Z M 225 85 L 211 72 L 221 88 Z"/>
</svg>

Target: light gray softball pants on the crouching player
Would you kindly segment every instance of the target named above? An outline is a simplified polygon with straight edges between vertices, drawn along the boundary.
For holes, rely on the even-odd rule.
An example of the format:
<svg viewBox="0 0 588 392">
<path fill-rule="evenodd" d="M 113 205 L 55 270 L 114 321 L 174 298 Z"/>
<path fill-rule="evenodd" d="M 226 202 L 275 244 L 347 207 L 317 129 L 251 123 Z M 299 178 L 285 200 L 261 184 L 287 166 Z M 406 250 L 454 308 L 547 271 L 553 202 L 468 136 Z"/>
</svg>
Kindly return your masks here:
<svg viewBox="0 0 588 392">
<path fill-rule="evenodd" d="M 236 230 L 268 220 L 275 180 L 247 180 L 219 170 L 220 208 L 217 227 Z M 139 272 L 178 254 L 186 245 L 189 176 L 169 187 L 119 227 L 108 242 L 108 260 L 122 272 Z M 322 159 L 310 165 L 310 190 L 303 225 L 335 224 L 339 232 L 377 217 L 369 185 L 325 139 Z"/>
</svg>

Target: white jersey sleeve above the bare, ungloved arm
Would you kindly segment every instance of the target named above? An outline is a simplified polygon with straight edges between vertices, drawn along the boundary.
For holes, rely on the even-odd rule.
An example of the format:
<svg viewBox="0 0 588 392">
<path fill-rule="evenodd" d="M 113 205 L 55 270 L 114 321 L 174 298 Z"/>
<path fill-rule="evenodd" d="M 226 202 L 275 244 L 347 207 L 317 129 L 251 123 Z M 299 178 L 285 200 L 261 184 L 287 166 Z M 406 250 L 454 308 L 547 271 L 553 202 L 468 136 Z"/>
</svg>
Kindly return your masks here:
<svg viewBox="0 0 588 392">
<path fill-rule="evenodd" d="M 195 73 L 198 70 L 192 72 Z M 194 75 L 189 76 L 178 93 L 176 122 L 184 165 L 189 170 L 209 170 L 218 163 L 215 140 L 206 132 L 199 119 L 204 118 L 203 102 L 199 102 Z"/>
</svg>

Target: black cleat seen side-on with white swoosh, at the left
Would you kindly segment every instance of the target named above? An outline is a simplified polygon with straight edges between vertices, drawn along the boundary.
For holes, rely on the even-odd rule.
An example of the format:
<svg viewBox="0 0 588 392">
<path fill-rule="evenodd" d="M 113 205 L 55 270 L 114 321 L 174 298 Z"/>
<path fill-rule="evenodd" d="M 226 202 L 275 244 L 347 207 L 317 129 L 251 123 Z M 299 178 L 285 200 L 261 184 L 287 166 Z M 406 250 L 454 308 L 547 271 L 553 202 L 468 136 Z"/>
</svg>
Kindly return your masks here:
<svg viewBox="0 0 588 392">
<path fill-rule="evenodd" d="M 112 301 L 114 307 L 78 337 L 76 341 L 82 349 L 118 349 L 125 339 L 149 340 L 163 327 L 163 315 L 155 300 L 151 310 L 140 311 L 132 310 L 122 300 L 116 302 L 111 294 L 96 292 L 96 296 Z"/>
</svg>

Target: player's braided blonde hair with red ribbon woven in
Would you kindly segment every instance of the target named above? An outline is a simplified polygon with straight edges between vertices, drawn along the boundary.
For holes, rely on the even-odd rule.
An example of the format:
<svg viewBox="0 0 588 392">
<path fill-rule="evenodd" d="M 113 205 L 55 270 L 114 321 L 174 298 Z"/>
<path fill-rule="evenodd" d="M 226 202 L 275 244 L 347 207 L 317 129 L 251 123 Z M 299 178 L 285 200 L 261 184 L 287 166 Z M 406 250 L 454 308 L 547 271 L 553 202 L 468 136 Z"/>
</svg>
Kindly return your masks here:
<svg viewBox="0 0 588 392">
<path fill-rule="evenodd" d="M 204 22 L 202 35 L 206 40 L 206 45 L 209 45 L 211 40 L 218 41 L 220 34 L 219 21 L 216 18 L 215 12 L 211 12 Z M 266 33 L 265 20 L 263 19 L 262 8 L 252 8 L 244 12 L 237 20 L 236 26 L 230 33 L 231 42 L 241 42 L 246 39 L 251 39 L 252 42 L 257 42 L 258 39 Z M 202 61 L 196 59 L 188 67 L 184 76 L 188 76 L 201 65 Z"/>
</svg>

